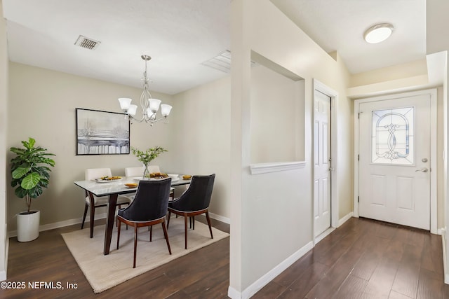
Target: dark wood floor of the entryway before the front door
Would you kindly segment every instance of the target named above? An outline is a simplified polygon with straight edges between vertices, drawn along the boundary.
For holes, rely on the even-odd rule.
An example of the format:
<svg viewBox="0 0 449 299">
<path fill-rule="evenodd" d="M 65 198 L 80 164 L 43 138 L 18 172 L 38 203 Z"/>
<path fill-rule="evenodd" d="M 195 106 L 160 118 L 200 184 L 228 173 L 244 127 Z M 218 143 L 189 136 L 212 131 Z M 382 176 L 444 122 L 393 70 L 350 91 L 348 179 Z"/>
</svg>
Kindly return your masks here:
<svg viewBox="0 0 449 299">
<path fill-rule="evenodd" d="M 351 218 L 253 298 L 449 298 L 441 237 Z"/>
</svg>

